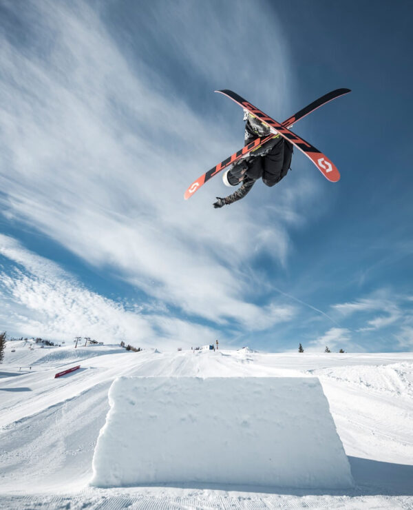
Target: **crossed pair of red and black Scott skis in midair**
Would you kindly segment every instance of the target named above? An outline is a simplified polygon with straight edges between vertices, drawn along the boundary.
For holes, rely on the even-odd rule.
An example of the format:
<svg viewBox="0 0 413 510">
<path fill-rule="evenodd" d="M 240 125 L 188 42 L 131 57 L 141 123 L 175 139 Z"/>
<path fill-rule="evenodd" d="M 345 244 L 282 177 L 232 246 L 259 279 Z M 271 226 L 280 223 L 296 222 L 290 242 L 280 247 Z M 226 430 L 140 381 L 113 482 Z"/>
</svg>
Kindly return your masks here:
<svg viewBox="0 0 413 510">
<path fill-rule="evenodd" d="M 319 151 L 317 151 L 317 149 L 315 149 L 315 147 L 308 144 L 306 141 L 300 139 L 299 136 L 295 135 L 293 132 L 289 131 L 286 128 L 290 127 L 291 125 L 293 125 L 293 123 L 299 121 L 300 119 L 303 119 L 310 112 L 314 112 L 314 110 L 317 110 L 317 108 L 319 108 L 320 106 L 325 105 L 329 101 L 332 101 L 332 99 L 335 99 L 336 97 L 339 97 L 339 96 L 343 96 L 344 94 L 348 94 L 348 92 L 351 92 L 348 88 L 340 88 L 337 90 L 332 90 L 332 92 L 328 92 L 328 94 L 324 94 L 324 96 L 319 97 L 319 99 L 316 99 L 315 101 L 313 101 L 313 103 L 310 103 L 302 110 L 299 110 L 299 112 L 297 112 L 293 116 L 290 116 L 282 124 L 279 124 L 279 123 L 277 123 L 277 121 L 274 121 L 273 119 L 271 119 L 271 117 L 266 116 L 263 112 L 261 112 L 260 110 L 257 110 L 257 108 L 255 108 L 253 105 L 251 105 L 251 103 L 248 103 L 248 101 L 245 101 L 244 99 L 242 99 L 241 96 L 238 96 L 237 94 L 235 94 L 235 92 L 231 92 L 231 90 L 220 90 L 217 92 L 221 92 L 222 94 L 229 96 L 231 99 L 233 99 L 233 101 L 240 104 L 242 106 L 242 108 L 245 108 L 246 110 L 250 111 L 253 115 L 260 118 L 264 123 L 266 123 L 267 125 L 270 125 L 271 128 L 275 128 L 275 125 L 271 125 L 270 123 L 268 123 L 268 119 L 270 121 L 272 121 L 273 123 L 275 123 L 277 126 L 279 126 L 278 128 L 275 128 L 275 130 L 277 130 L 277 132 L 279 132 L 279 134 L 284 136 L 284 138 L 288 139 L 291 143 L 294 143 L 294 145 L 296 145 L 296 147 L 298 147 L 299 150 L 303 151 L 304 154 L 306 154 L 314 163 L 315 163 L 315 159 L 318 159 L 319 160 L 319 161 L 317 161 L 318 164 L 315 163 L 315 165 L 317 166 L 317 168 L 319 168 L 319 170 L 321 172 L 323 172 L 323 174 L 327 177 L 327 179 L 332 180 L 332 179 L 330 179 L 330 176 L 328 176 L 328 174 L 330 174 L 330 172 L 333 172 L 333 165 L 328 159 L 326 159 L 326 156 L 324 156 L 324 154 L 321 154 Z M 237 99 L 235 99 L 235 98 L 237 98 Z M 238 100 L 240 100 L 240 101 L 238 101 Z M 251 108 L 253 110 L 251 110 Z M 267 121 L 264 119 L 267 119 Z M 280 129 L 284 129 L 284 134 L 283 134 L 283 132 L 280 131 Z M 261 145 L 264 145 L 264 143 L 271 140 L 273 138 L 273 136 L 275 136 L 275 135 L 270 134 L 264 138 L 257 138 L 255 140 L 253 140 L 251 143 L 248 143 L 248 145 L 245 145 L 244 147 L 242 147 L 241 150 L 235 152 L 235 154 L 233 154 L 229 158 L 224 159 L 224 161 L 221 161 L 221 163 L 218 163 L 218 165 L 211 168 L 211 170 L 208 170 L 208 172 L 205 172 L 203 175 L 201 175 L 196 181 L 194 181 L 189 186 L 189 188 L 187 189 L 187 191 L 184 194 L 184 198 L 187 200 L 187 198 L 192 196 L 195 193 L 195 191 L 198 190 L 204 183 L 209 181 L 209 179 L 211 179 L 211 177 L 218 174 L 218 172 L 220 172 L 221 170 L 224 170 L 224 168 L 226 168 L 228 165 L 235 163 L 235 161 L 238 161 L 238 159 L 241 159 L 243 156 L 246 156 L 249 152 L 253 151 L 254 149 L 257 149 Z M 297 145 L 297 143 L 301 143 L 302 147 Z M 310 149 L 312 149 L 313 152 L 311 152 Z M 309 154 L 311 154 L 311 156 Z M 316 154 L 319 154 L 318 158 L 315 158 Z M 315 159 L 313 159 L 313 158 L 315 158 Z M 321 165 L 321 167 L 319 167 L 319 165 Z M 325 165 L 324 171 L 321 170 L 322 165 Z M 332 165 L 331 170 L 330 170 L 329 165 Z M 335 169 L 335 170 L 337 171 L 337 174 L 338 174 L 338 179 L 336 179 L 338 181 L 340 176 L 339 176 L 338 170 L 337 169 Z M 324 173 L 324 172 L 326 172 L 326 173 Z M 335 174 L 336 177 L 337 177 L 337 174 Z"/>
</svg>

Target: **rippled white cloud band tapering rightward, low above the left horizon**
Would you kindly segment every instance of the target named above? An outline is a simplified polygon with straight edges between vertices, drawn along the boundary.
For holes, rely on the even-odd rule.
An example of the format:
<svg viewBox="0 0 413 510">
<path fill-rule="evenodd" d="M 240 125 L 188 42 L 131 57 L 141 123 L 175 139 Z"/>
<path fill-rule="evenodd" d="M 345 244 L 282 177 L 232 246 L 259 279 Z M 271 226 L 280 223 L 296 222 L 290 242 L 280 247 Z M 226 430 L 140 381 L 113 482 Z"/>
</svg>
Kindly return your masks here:
<svg viewBox="0 0 413 510">
<path fill-rule="evenodd" d="M 0 272 L 0 323 L 9 332 L 169 348 L 191 340 L 207 343 L 216 336 L 211 327 L 167 318 L 151 305 L 127 306 L 90 292 L 55 263 L 1 234 L 0 255 L 14 263 L 12 272 Z"/>
</svg>

